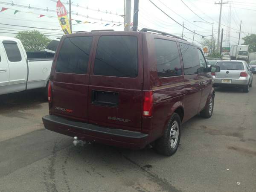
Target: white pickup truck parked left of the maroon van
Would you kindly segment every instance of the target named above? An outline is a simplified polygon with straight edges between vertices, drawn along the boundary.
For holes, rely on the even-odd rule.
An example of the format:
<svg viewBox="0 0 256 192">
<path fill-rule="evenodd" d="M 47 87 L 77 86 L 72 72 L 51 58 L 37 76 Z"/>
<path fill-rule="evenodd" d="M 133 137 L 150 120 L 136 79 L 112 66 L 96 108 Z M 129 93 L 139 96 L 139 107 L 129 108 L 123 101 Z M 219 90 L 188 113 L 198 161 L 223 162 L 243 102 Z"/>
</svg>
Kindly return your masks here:
<svg viewBox="0 0 256 192">
<path fill-rule="evenodd" d="M 26 52 L 20 40 L 0 36 L 0 95 L 46 88 L 54 53 Z"/>
</svg>

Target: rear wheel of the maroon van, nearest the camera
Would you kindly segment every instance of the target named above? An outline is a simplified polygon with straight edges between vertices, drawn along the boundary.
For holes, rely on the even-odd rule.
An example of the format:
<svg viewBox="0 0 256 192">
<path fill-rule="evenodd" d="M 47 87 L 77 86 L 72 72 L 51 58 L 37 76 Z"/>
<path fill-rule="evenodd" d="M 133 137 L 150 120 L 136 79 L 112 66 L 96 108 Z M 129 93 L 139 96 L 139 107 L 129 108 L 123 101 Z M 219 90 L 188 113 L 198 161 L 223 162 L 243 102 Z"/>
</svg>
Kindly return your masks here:
<svg viewBox="0 0 256 192">
<path fill-rule="evenodd" d="M 175 154 L 180 143 L 180 124 L 180 116 L 173 113 L 163 136 L 155 143 L 155 149 L 158 153 L 166 156 Z"/>
</svg>

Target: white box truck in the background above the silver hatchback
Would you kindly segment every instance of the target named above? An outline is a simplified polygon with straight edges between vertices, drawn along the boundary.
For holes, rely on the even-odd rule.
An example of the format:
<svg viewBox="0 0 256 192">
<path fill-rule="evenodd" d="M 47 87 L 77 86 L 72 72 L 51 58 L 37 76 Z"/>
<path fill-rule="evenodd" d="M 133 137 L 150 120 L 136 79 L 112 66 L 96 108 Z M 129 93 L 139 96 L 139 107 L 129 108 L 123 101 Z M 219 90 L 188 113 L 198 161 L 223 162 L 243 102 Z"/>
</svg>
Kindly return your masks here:
<svg viewBox="0 0 256 192">
<path fill-rule="evenodd" d="M 249 49 L 248 45 L 232 45 L 230 49 L 231 59 L 248 61 L 248 57 L 249 57 L 248 49 Z"/>
</svg>

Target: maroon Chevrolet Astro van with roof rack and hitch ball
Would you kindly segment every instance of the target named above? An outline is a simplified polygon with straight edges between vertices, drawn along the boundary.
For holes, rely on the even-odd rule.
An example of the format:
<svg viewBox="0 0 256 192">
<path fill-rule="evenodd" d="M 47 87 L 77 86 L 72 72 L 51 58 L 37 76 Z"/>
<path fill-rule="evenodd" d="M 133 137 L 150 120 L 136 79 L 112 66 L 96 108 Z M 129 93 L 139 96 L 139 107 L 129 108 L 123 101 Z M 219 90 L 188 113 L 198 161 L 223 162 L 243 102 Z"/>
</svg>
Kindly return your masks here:
<svg viewBox="0 0 256 192">
<path fill-rule="evenodd" d="M 93 31 L 64 35 L 49 81 L 46 129 L 79 141 L 172 155 L 180 128 L 209 118 L 214 88 L 202 50 L 175 35 Z"/>
</svg>

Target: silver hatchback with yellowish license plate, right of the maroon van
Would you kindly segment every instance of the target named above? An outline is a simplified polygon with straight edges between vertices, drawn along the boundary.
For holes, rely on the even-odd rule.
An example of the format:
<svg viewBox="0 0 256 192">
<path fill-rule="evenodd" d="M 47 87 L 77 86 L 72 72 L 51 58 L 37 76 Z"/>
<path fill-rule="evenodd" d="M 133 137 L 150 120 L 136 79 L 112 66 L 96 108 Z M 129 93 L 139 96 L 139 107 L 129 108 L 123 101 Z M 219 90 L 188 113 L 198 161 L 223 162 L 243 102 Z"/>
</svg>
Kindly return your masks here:
<svg viewBox="0 0 256 192">
<path fill-rule="evenodd" d="M 253 83 L 253 75 L 246 61 L 218 61 L 220 73 L 212 73 L 214 86 L 240 87 L 248 93 Z"/>
</svg>

